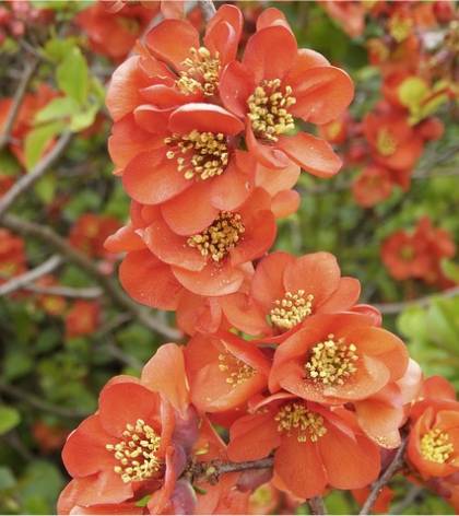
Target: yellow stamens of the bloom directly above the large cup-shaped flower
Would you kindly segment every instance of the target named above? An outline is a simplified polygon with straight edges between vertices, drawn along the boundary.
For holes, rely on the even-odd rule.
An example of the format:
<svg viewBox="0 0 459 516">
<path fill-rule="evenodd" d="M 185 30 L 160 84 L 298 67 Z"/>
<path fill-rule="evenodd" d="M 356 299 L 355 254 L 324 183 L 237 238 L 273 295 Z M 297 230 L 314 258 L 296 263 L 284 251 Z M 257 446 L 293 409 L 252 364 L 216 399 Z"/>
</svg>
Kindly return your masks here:
<svg viewBox="0 0 459 516">
<path fill-rule="evenodd" d="M 313 313 L 314 295 L 305 295 L 304 290 L 285 292 L 282 300 L 274 301 L 274 308 L 269 313 L 271 322 L 287 331 Z"/>
</svg>

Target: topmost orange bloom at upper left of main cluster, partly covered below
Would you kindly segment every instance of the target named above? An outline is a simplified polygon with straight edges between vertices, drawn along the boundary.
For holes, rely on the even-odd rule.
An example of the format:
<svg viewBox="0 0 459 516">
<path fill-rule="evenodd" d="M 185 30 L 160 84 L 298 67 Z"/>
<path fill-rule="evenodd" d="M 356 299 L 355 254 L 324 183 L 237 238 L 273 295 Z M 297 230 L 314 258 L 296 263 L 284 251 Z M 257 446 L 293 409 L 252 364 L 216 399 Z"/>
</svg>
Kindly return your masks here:
<svg viewBox="0 0 459 516">
<path fill-rule="evenodd" d="M 173 3 L 173 2 L 166 2 Z M 190 102 L 217 98 L 220 74 L 236 58 L 243 15 L 234 5 L 222 5 L 207 25 L 203 45 L 187 20 L 164 20 L 146 35 L 146 47 L 127 59 L 114 73 L 107 107 L 115 121 L 145 108 L 167 116 Z M 155 108 L 155 109 L 154 109 Z"/>
</svg>

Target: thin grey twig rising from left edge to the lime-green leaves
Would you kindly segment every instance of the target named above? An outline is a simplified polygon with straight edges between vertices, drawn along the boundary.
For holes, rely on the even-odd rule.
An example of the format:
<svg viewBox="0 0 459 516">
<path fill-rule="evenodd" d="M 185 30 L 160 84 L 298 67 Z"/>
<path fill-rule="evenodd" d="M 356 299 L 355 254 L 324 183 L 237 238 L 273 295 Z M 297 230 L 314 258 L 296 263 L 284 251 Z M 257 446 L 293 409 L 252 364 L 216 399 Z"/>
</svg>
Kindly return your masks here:
<svg viewBox="0 0 459 516">
<path fill-rule="evenodd" d="M 62 154 L 72 138 L 71 132 L 64 132 L 56 145 L 49 151 L 37 165 L 21 177 L 0 199 L 0 220 L 5 211 L 14 203 L 21 194 L 28 190 L 48 171 L 52 163 Z"/>
</svg>

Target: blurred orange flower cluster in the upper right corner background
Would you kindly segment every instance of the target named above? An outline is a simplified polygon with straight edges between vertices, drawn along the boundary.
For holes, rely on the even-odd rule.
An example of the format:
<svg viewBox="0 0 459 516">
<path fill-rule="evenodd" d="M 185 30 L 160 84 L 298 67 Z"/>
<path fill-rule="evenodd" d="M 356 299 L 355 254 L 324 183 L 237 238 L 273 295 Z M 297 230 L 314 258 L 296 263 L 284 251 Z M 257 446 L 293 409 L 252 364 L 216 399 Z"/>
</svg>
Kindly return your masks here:
<svg viewBox="0 0 459 516">
<path fill-rule="evenodd" d="M 322 128 L 342 144 L 346 163 L 363 167 L 355 201 L 373 207 L 395 186 L 407 190 L 429 140 L 443 134 L 433 114 L 458 96 L 455 56 L 458 22 L 454 2 L 320 2 L 352 36 L 362 36 L 365 14 L 384 31 L 366 40 L 368 59 L 381 74 L 381 99 L 362 120 L 349 115 Z"/>
</svg>

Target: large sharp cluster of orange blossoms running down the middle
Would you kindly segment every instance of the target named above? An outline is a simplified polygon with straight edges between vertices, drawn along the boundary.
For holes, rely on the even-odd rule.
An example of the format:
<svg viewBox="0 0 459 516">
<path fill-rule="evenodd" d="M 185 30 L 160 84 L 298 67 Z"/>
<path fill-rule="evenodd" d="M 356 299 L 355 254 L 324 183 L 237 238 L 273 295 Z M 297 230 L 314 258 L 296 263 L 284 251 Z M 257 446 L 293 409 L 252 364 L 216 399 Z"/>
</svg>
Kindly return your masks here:
<svg viewBox="0 0 459 516">
<path fill-rule="evenodd" d="M 127 292 L 176 310 L 191 338 L 162 345 L 140 379 L 104 387 L 63 448 L 73 479 L 60 514 L 245 514 L 271 474 L 296 500 L 365 489 L 401 444 L 422 387 L 403 342 L 358 304 L 358 281 L 332 255 L 267 255 L 275 220 L 297 209 L 299 167 L 328 177 L 341 166 L 301 120 L 339 117 L 352 82 L 298 49 L 276 9 L 238 60 L 242 27 L 233 5 L 202 43 L 189 22 L 165 20 L 114 73 L 109 151 L 132 201 L 106 247 L 127 253 Z M 416 432 L 412 462 L 444 465 L 431 474 L 450 495 L 452 430 L 429 417 Z M 219 469 L 263 459 L 261 472 Z"/>
</svg>

